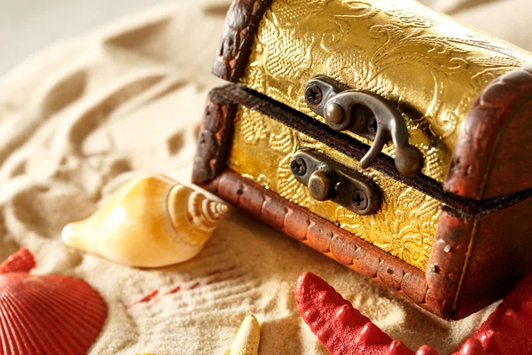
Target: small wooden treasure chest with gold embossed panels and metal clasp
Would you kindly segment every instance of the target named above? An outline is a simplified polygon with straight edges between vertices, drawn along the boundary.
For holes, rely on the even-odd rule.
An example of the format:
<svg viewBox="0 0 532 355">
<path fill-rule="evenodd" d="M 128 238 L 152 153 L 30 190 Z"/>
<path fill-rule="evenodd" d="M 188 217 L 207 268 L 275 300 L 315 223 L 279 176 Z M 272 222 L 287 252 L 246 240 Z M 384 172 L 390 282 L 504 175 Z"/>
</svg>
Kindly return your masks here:
<svg viewBox="0 0 532 355">
<path fill-rule="evenodd" d="M 532 269 L 532 54 L 410 0 L 236 0 L 193 182 L 444 319 Z"/>
</svg>

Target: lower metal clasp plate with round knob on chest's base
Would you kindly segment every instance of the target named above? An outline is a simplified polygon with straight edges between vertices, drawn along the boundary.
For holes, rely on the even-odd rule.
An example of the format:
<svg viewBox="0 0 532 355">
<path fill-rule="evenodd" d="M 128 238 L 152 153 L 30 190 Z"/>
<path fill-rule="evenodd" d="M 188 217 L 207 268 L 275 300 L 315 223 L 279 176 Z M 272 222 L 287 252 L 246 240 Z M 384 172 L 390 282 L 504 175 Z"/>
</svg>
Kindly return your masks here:
<svg viewBox="0 0 532 355">
<path fill-rule="evenodd" d="M 372 215 L 379 209 L 379 186 L 325 154 L 301 149 L 293 155 L 290 169 L 317 201 L 331 200 L 359 215 Z"/>
</svg>

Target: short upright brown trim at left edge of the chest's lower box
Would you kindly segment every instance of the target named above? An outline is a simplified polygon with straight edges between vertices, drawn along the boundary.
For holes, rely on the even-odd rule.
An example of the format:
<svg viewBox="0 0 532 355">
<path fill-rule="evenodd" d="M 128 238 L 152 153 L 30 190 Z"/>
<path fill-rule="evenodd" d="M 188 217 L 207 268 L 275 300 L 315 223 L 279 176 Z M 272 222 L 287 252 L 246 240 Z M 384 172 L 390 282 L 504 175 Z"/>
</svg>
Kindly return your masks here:
<svg viewBox="0 0 532 355">
<path fill-rule="evenodd" d="M 237 108 L 224 102 L 215 90 L 209 93 L 194 157 L 192 183 L 207 184 L 225 169 Z"/>
</svg>

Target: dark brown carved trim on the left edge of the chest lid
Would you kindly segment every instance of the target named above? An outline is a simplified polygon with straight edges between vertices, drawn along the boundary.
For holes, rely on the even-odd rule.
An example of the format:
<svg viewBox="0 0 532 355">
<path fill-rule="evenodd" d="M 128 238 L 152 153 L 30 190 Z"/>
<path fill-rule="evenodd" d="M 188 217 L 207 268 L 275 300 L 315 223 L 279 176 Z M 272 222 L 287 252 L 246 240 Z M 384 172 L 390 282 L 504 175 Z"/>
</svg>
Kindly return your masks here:
<svg viewBox="0 0 532 355">
<path fill-rule="evenodd" d="M 225 19 L 225 31 L 220 38 L 213 74 L 237 83 L 246 70 L 254 36 L 264 12 L 273 0 L 234 0 Z"/>
</svg>

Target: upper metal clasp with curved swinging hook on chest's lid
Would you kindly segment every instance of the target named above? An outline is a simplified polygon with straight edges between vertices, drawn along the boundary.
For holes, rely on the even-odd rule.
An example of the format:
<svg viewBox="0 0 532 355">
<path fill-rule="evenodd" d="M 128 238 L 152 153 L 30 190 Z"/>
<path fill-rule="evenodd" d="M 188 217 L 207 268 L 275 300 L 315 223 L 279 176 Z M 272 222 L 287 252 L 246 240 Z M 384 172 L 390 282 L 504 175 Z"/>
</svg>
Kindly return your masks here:
<svg viewBox="0 0 532 355">
<path fill-rule="evenodd" d="M 332 130 L 350 130 L 373 141 L 360 161 L 364 169 L 377 159 L 387 141 L 395 146 L 395 168 L 404 176 L 419 174 L 423 154 L 409 143 L 403 116 L 387 99 L 372 91 L 349 90 L 325 75 L 312 78 L 305 87 L 309 108 L 323 116 Z"/>
</svg>

